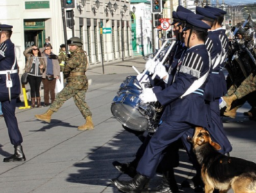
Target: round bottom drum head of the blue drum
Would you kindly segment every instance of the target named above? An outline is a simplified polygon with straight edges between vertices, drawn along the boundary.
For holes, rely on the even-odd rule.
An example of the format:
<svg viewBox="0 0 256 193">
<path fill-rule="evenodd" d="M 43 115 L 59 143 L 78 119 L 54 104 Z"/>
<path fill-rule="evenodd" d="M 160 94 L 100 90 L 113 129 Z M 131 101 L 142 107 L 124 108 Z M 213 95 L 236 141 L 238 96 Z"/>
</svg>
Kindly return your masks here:
<svg viewBox="0 0 256 193">
<path fill-rule="evenodd" d="M 131 105 L 113 103 L 111 112 L 122 125 L 131 130 L 145 131 L 148 128 L 148 121 L 145 116 Z"/>
</svg>

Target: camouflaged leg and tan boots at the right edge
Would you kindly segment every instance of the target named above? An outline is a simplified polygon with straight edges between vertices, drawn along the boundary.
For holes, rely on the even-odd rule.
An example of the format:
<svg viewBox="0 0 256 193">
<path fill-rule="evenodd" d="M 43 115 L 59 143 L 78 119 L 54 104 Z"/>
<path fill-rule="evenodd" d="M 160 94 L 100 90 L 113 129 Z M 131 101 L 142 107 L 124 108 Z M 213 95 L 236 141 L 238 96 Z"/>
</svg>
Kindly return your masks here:
<svg viewBox="0 0 256 193">
<path fill-rule="evenodd" d="M 248 94 L 252 94 L 252 92 L 255 92 L 256 90 L 256 76 L 255 72 L 251 73 L 242 83 L 239 85 L 237 89 L 235 89 L 235 86 L 232 85 L 230 89 L 228 90 L 227 96 L 223 96 L 223 100 L 226 102 L 226 111 L 224 112 L 225 116 L 229 116 L 233 119 L 235 119 L 235 115 L 237 112 L 237 109 L 241 107 L 241 105 L 244 104 L 246 99 L 244 99 L 244 96 Z M 242 98 L 244 100 L 242 100 Z M 237 100 L 239 99 L 239 100 Z M 236 103 L 232 103 L 235 101 Z M 254 108 L 254 107 L 253 107 Z M 249 116 L 253 116 L 251 112 L 248 112 Z"/>
</svg>

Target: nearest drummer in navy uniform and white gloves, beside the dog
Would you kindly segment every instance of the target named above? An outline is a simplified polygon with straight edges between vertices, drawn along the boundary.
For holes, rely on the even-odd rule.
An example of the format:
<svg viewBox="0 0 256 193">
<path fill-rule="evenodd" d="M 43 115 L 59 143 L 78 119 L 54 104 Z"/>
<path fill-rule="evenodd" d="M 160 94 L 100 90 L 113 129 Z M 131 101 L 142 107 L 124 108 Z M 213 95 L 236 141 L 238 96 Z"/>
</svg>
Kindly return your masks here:
<svg viewBox="0 0 256 193">
<path fill-rule="evenodd" d="M 170 85 L 157 93 L 147 89 L 140 96 L 144 102 L 159 101 L 161 105 L 165 105 L 161 117 L 163 122 L 149 141 L 138 163 L 138 174 L 134 179 L 131 181 L 112 179 L 113 184 L 122 192 L 142 190 L 155 175 L 162 152 L 170 143 L 193 134 L 196 126 L 208 127 L 203 90 L 210 70 L 210 54 L 204 44 L 210 26 L 195 18 L 190 15 L 186 19 L 183 37 L 188 50 L 179 60 L 174 77 L 164 70 L 157 71 L 158 77 L 163 77 L 167 85 L 170 81 Z M 159 68 L 163 69 L 161 66 Z M 189 147 L 188 142 L 183 140 L 183 143 L 186 143 L 186 149 L 191 154 L 192 148 Z"/>
</svg>

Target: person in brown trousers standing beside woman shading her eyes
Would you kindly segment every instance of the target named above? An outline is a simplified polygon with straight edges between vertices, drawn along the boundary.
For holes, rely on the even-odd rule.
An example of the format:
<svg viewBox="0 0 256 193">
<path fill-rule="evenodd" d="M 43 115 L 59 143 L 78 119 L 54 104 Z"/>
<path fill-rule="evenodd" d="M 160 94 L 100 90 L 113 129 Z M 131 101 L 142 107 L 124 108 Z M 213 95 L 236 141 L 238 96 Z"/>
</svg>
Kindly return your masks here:
<svg viewBox="0 0 256 193">
<path fill-rule="evenodd" d="M 42 57 L 44 57 L 44 62 L 46 63 L 46 70 L 44 70 L 42 81 L 44 84 L 44 106 L 50 105 L 55 100 L 55 85 L 56 79 L 60 79 L 60 64 L 57 59 L 49 57 L 53 52 L 51 52 L 52 46 L 46 45 L 42 49 Z"/>
</svg>

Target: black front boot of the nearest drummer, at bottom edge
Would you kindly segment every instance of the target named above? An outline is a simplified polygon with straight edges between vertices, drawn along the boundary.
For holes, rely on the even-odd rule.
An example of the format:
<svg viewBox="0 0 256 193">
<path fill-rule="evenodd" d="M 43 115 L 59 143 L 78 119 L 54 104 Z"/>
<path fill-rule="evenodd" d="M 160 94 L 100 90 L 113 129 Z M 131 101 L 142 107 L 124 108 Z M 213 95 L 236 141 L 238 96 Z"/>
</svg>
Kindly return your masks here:
<svg viewBox="0 0 256 193">
<path fill-rule="evenodd" d="M 118 179 L 112 179 L 111 182 L 121 192 L 141 192 L 149 182 L 149 178 L 147 178 L 147 176 L 136 174 L 134 179 L 131 181 L 119 181 Z"/>
</svg>

